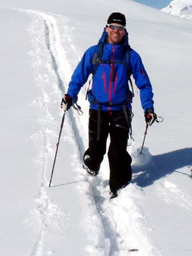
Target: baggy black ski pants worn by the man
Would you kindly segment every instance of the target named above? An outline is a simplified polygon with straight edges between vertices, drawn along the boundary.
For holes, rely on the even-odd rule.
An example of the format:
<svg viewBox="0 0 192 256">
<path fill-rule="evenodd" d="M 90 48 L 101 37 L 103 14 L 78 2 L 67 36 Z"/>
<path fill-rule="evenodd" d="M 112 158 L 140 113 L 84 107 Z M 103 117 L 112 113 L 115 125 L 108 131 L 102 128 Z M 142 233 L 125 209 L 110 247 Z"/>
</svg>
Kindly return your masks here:
<svg viewBox="0 0 192 256">
<path fill-rule="evenodd" d="M 131 113 L 126 109 L 127 116 Z M 127 186 L 132 178 L 131 156 L 127 152 L 129 138 L 129 122 L 127 124 L 123 110 L 100 111 L 100 140 L 97 141 L 97 110 L 90 109 L 89 145 L 84 153 L 84 163 L 90 170 L 98 171 L 106 154 L 108 135 L 109 188 L 111 191 Z"/>
</svg>

